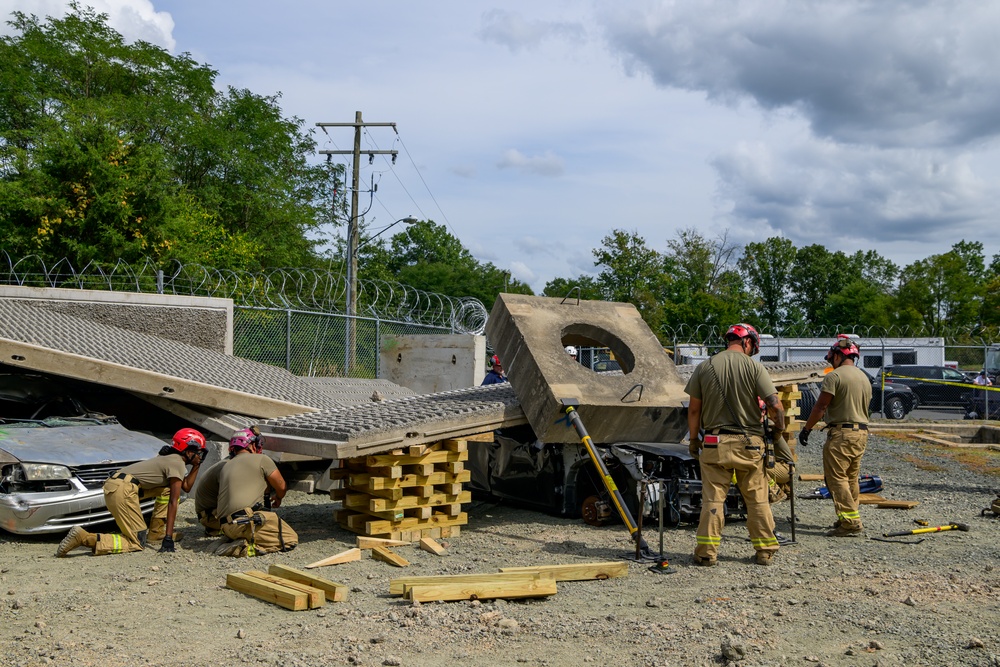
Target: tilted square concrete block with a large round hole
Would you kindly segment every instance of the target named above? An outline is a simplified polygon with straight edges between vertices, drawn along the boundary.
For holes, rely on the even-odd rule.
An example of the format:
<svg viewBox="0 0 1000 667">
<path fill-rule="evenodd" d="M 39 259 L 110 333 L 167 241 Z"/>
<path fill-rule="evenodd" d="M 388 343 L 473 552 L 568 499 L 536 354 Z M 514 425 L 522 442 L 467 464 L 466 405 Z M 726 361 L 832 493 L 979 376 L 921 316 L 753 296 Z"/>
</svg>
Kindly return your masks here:
<svg viewBox="0 0 1000 667">
<path fill-rule="evenodd" d="M 579 401 L 594 442 L 678 441 L 687 430 L 684 384 L 656 336 L 628 303 L 501 294 L 486 335 L 535 434 L 577 442 L 562 419 L 562 399 Z M 620 375 L 573 361 L 566 345 L 608 347 Z"/>
</svg>

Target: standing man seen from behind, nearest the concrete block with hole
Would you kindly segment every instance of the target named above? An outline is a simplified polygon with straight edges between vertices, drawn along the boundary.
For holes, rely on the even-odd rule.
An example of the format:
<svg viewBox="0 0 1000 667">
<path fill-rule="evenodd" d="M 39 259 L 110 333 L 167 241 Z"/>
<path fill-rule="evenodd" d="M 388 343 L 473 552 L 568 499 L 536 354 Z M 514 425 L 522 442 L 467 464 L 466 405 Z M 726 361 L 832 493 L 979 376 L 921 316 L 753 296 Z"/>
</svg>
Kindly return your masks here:
<svg viewBox="0 0 1000 667">
<path fill-rule="evenodd" d="M 684 391 L 688 406 L 689 451 L 701 462 L 701 519 L 696 565 L 716 564 L 726 522 L 726 495 L 735 478 L 747 506 L 747 529 L 758 565 L 771 565 L 778 550 L 774 517 L 764 474 L 764 427 L 757 397 L 773 410 L 778 432 L 785 430 L 785 411 L 764 367 L 751 357 L 760 336 L 749 324 L 734 324 L 725 335 L 726 349 L 695 367 Z M 787 451 L 788 445 L 784 443 Z M 783 460 L 791 452 L 781 452 Z"/>
</svg>

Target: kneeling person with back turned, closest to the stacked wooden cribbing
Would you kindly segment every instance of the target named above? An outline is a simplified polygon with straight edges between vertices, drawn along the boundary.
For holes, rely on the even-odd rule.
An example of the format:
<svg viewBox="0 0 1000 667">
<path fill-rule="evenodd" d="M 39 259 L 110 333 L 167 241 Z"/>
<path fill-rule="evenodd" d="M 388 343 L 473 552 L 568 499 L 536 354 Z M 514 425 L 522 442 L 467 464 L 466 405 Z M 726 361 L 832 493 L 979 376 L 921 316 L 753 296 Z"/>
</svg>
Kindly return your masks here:
<svg viewBox="0 0 1000 667">
<path fill-rule="evenodd" d="M 262 454 L 260 436 L 250 429 L 237 431 L 229 441 L 229 460 L 219 473 L 216 514 L 231 544 L 216 553 L 237 558 L 289 551 L 299 536 L 274 512 L 263 511 L 264 492 L 274 491 L 272 507 L 280 507 L 287 487 L 271 457 Z"/>
</svg>

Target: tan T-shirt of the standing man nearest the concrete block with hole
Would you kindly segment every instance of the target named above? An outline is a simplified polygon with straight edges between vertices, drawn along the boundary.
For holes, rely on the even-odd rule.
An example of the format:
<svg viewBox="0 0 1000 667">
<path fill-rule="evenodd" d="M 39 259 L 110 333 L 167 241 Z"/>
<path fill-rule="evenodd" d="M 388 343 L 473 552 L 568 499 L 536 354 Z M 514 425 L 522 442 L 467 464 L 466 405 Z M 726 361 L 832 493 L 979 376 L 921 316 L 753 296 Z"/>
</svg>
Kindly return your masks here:
<svg viewBox="0 0 1000 667">
<path fill-rule="evenodd" d="M 715 368 L 714 374 L 709 364 Z M 725 391 L 725 400 L 722 391 Z M 724 428 L 763 436 L 757 397 L 766 398 L 777 390 L 771 376 L 759 362 L 742 352 L 723 350 L 695 367 L 684 392 L 692 398 L 701 399 L 701 427 L 706 432 Z M 732 411 L 726 407 L 727 401 Z"/>
</svg>

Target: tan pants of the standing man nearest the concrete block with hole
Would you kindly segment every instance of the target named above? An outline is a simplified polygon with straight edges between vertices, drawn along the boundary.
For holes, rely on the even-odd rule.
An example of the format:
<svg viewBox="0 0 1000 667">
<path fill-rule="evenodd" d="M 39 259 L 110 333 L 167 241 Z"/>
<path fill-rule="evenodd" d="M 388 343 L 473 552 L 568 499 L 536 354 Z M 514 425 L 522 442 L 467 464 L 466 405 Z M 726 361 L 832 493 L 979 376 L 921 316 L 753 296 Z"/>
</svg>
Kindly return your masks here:
<svg viewBox="0 0 1000 667">
<path fill-rule="evenodd" d="M 752 436 L 719 435 L 717 445 L 705 444 L 701 450 L 701 520 L 698 522 L 699 558 L 715 560 L 726 525 L 726 495 L 733 476 L 747 505 L 747 530 L 755 551 L 775 552 L 774 517 L 767 501 L 767 477 L 764 474 L 764 440 Z"/>
</svg>

